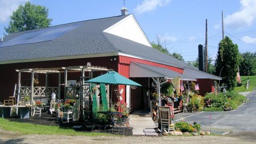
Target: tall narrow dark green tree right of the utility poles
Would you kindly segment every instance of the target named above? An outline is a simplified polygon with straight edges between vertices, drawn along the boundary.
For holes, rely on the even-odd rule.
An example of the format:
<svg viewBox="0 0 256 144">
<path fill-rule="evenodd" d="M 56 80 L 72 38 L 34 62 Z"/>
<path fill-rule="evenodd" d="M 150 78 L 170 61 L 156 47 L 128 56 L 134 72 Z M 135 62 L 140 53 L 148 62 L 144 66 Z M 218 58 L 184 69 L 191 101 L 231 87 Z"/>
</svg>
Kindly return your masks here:
<svg viewBox="0 0 256 144">
<path fill-rule="evenodd" d="M 239 60 L 241 60 L 241 54 L 238 51 L 237 44 L 234 44 L 232 40 L 226 36 L 219 43 L 219 51 L 215 65 L 216 75 L 220 75 L 221 71 L 221 77 L 223 78 L 222 83 L 227 84 L 228 90 L 234 90 L 236 86 Z"/>
</svg>

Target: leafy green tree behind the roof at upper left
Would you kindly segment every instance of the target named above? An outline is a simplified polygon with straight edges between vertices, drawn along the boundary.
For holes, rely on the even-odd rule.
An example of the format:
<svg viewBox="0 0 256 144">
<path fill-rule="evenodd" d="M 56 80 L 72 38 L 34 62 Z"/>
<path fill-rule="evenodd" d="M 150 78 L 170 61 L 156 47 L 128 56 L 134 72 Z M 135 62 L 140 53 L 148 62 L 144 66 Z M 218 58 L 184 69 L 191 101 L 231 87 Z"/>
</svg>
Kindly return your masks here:
<svg viewBox="0 0 256 144">
<path fill-rule="evenodd" d="M 24 6 L 20 5 L 11 15 L 9 26 L 5 27 L 8 34 L 49 27 L 52 19 L 48 17 L 48 9 L 41 5 L 34 5 L 27 2 Z"/>
</svg>

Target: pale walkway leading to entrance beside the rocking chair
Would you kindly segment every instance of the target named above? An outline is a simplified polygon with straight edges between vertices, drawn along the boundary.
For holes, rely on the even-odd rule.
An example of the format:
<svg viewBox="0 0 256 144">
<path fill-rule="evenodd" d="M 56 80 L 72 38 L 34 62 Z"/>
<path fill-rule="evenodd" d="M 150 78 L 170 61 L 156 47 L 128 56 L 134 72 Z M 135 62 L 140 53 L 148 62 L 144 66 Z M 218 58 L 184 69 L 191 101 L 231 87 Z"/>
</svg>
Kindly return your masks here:
<svg viewBox="0 0 256 144">
<path fill-rule="evenodd" d="M 129 124 L 132 127 L 133 135 L 158 136 L 155 131 L 155 123 L 146 111 L 134 111 L 129 116 Z"/>
</svg>

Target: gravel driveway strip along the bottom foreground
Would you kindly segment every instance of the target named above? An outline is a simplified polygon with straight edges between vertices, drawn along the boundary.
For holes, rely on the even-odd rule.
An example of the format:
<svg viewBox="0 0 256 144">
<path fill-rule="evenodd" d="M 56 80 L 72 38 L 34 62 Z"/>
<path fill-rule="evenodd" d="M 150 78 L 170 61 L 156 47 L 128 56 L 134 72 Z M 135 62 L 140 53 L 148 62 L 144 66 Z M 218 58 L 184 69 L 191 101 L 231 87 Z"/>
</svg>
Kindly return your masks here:
<svg viewBox="0 0 256 144">
<path fill-rule="evenodd" d="M 226 136 L 196 137 L 83 137 L 66 135 L 20 135 L 1 131 L 0 143 L 254 143 L 247 139 Z"/>
</svg>

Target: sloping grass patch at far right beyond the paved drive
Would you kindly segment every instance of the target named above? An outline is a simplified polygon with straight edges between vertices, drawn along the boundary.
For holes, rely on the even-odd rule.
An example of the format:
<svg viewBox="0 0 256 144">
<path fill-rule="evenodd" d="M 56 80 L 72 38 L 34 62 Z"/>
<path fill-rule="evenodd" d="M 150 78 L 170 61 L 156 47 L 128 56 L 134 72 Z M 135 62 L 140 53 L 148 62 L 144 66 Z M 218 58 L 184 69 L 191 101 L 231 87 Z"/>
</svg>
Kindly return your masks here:
<svg viewBox="0 0 256 144">
<path fill-rule="evenodd" d="M 249 77 L 250 86 L 249 89 L 246 90 L 247 78 Z M 256 76 L 241 76 L 242 86 L 235 87 L 235 91 L 237 92 L 247 92 L 252 91 L 256 88 Z"/>
</svg>

